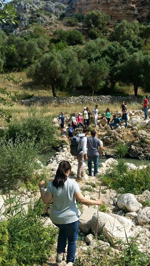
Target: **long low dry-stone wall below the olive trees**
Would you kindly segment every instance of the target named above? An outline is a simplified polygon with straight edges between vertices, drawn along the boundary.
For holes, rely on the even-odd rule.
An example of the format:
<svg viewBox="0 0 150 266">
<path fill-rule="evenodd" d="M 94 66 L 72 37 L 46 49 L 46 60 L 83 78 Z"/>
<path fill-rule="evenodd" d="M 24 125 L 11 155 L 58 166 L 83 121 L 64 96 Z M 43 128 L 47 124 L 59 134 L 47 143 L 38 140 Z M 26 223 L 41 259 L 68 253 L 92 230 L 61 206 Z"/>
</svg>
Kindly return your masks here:
<svg viewBox="0 0 150 266">
<path fill-rule="evenodd" d="M 131 96 L 111 96 L 111 95 L 99 95 L 99 96 L 78 96 L 78 97 L 32 97 L 31 99 L 22 100 L 21 103 L 27 106 L 32 104 L 44 105 L 44 104 L 91 104 L 91 103 L 121 103 L 122 101 L 127 103 L 141 103 L 142 99 L 137 98 L 134 95 Z"/>
</svg>

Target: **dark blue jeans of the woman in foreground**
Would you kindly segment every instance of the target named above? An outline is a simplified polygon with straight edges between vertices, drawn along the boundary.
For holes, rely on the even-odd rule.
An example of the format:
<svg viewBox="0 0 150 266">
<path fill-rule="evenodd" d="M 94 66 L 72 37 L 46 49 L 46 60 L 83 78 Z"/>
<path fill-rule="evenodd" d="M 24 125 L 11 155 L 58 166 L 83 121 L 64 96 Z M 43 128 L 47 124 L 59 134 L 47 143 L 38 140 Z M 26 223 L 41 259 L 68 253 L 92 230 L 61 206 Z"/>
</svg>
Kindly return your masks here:
<svg viewBox="0 0 150 266">
<path fill-rule="evenodd" d="M 59 228 L 57 253 L 65 252 L 68 239 L 67 263 L 74 262 L 77 249 L 79 220 L 71 224 L 54 224 Z"/>
</svg>

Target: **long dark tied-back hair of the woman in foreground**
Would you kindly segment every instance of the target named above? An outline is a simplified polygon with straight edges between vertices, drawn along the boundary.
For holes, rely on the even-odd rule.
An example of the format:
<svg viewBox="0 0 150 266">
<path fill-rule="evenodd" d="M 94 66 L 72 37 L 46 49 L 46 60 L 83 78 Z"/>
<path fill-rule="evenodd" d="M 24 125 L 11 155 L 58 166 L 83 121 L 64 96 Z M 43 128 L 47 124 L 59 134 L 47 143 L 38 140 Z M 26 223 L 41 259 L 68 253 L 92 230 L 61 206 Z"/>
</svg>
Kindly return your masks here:
<svg viewBox="0 0 150 266">
<path fill-rule="evenodd" d="M 53 186 L 56 188 L 63 187 L 65 181 L 67 180 L 66 173 L 71 171 L 71 164 L 68 161 L 62 161 L 59 163 L 55 179 L 53 180 Z"/>
</svg>

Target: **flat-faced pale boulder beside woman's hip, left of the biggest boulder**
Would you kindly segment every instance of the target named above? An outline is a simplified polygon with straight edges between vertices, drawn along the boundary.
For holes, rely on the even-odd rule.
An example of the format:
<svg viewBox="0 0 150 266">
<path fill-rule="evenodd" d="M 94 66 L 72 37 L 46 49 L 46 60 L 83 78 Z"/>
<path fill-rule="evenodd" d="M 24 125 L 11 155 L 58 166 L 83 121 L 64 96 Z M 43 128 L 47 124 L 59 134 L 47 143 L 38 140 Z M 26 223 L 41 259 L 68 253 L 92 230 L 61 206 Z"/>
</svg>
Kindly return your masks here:
<svg viewBox="0 0 150 266">
<path fill-rule="evenodd" d="M 96 211 L 96 209 L 89 207 L 83 210 L 83 213 L 80 216 L 79 228 L 86 234 L 90 232 L 92 216 Z"/>
</svg>

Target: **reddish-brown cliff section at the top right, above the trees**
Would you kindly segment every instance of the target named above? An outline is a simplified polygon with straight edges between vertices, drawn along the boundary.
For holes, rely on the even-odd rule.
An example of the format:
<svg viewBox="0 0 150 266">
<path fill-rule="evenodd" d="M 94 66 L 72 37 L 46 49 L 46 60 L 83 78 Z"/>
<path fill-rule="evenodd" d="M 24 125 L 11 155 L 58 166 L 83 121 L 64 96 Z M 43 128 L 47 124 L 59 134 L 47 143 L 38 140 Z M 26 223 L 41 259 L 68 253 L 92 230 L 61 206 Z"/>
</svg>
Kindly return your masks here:
<svg viewBox="0 0 150 266">
<path fill-rule="evenodd" d="M 69 13 L 83 13 L 92 10 L 103 10 L 111 16 L 111 21 L 126 19 L 139 22 L 148 19 L 150 14 L 149 0 L 72 0 L 68 9 Z"/>
</svg>

